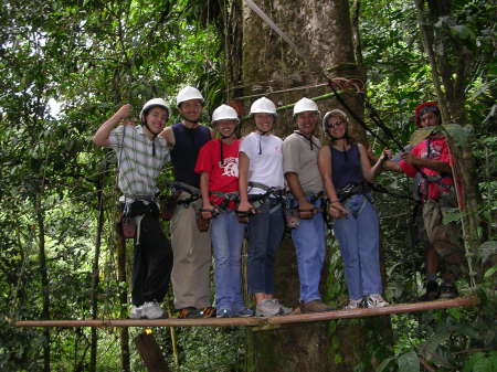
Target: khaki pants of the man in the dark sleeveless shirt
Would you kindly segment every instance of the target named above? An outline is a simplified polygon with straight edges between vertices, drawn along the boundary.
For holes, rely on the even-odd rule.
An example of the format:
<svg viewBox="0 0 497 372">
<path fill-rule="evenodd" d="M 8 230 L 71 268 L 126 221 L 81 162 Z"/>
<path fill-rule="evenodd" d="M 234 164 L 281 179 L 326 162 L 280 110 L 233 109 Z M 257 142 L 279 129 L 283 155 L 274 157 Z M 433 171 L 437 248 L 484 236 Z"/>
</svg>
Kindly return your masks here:
<svg viewBox="0 0 497 372">
<path fill-rule="evenodd" d="M 201 233 L 197 227 L 195 210 L 200 206 L 201 200 L 188 208 L 178 205 L 170 223 L 173 253 L 171 283 L 177 309 L 211 306 L 211 234 L 210 231 Z"/>
</svg>

